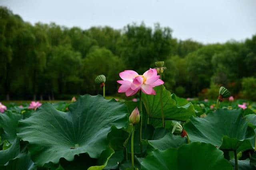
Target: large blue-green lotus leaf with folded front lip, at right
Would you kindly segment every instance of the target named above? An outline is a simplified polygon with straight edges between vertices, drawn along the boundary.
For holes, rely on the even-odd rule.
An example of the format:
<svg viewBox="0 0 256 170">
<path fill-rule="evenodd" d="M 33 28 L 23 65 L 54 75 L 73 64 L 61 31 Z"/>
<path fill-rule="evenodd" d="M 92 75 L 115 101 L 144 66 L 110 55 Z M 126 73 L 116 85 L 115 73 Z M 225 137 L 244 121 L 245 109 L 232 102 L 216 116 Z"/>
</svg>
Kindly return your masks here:
<svg viewBox="0 0 256 170">
<path fill-rule="evenodd" d="M 207 117 L 191 117 L 184 125 L 192 142 L 210 143 L 222 150 L 253 149 L 255 133 L 241 109 L 217 109 Z"/>
</svg>

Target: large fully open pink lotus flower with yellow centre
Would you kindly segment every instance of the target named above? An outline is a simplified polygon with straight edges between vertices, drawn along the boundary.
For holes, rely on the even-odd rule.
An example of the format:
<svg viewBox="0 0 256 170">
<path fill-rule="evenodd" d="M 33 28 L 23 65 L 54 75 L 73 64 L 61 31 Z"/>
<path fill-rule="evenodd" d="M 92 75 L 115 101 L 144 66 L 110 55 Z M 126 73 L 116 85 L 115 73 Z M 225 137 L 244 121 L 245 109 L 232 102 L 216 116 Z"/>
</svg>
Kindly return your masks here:
<svg viewBox="0 0 256 170">
<path fill-rule="evenodd" d="M 139 75 L 133 70 L 124 70 L 119 73 L 122 80 L 118 80 L 119 84 L 122 84 L 118 89 L 119 93 L 124 93 L 126 96 L 132 96 L 139 90 L 142 90 L 145 94 L 153 94 L 156 92 L 153 89 L 155 86 L 164 84 L 163 80 L 159 79 L 156 69 L 150 68 L 143 75 Z"/>
</svg>

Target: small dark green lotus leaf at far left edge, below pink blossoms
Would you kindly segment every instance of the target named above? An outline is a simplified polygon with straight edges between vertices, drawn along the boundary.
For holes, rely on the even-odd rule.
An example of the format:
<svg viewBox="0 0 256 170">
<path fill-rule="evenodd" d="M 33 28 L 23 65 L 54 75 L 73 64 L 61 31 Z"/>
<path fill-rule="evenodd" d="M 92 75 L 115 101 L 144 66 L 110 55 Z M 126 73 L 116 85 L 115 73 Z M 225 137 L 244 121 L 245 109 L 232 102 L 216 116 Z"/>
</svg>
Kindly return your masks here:
<svg viewBox="0 0 256 170">
<path fill-rule="evenodd" d="M 2 141 L 7 140 L 10 143 L 16 139 L 18 121 L 22 119 L 23 115 L 20 113 L 14 113 L 11 111 L 6 111 L 0 114 L 0 127 L 3 129 L 1 135 Z"/>
</svg>

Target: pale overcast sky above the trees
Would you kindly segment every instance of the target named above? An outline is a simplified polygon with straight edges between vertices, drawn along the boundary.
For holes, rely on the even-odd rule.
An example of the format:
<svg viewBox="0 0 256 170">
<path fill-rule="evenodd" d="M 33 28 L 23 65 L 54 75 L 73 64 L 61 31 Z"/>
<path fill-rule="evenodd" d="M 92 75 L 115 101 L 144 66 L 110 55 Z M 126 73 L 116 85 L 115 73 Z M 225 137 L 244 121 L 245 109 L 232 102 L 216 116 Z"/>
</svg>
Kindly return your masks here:
<svg viewBox="0 0 256 170">
<path fill-rule="evenodd" d="M 0 6 L 30 23 L 82 29 L 158 22 L 172 28 L 178 39 L 202 43 L 241 41 L 256 34 L 256 0 L 0 0 Z"/>
</svg>

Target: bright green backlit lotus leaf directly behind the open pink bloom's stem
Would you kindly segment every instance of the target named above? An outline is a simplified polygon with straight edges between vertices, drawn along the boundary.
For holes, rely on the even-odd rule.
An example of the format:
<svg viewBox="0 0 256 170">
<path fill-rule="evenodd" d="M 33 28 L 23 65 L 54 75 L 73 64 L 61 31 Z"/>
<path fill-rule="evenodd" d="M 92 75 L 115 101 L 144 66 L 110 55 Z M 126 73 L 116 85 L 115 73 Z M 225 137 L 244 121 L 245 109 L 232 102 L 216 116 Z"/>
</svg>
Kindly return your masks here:
<svg viewBox="0 0 256 170">
<path fill-rule="evenodd" d="M 150 123 L 161 125 L 161 104 L 160 104 L 160 88 L 154 88 L 156 95 L 147 95 L 142 93 L 142 102 L 150 117 Z M 195 115 L 194 106 L 188 103 L 180 106 L 175 98 L 172 98 L 171 93 L 163 87 L 163 109 L 165 120 L 186 121 L 189 117 Z"/>
</svg>

